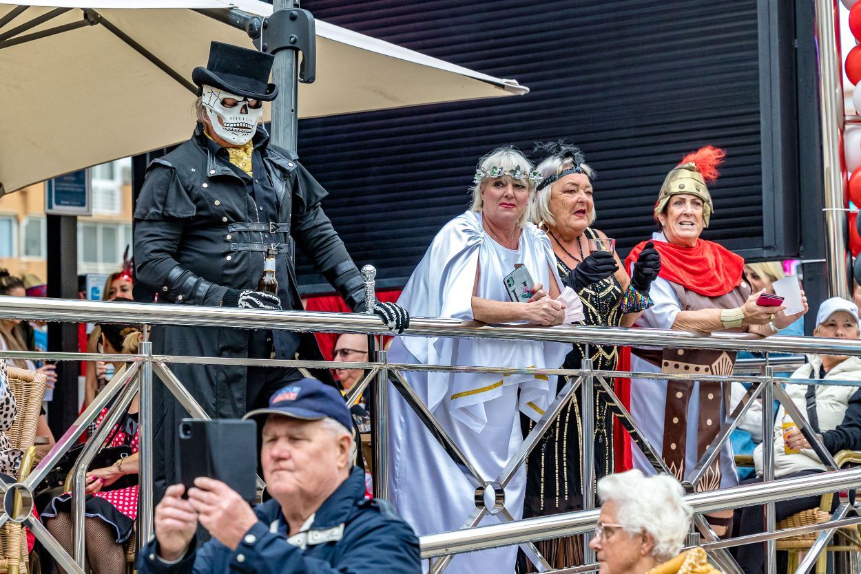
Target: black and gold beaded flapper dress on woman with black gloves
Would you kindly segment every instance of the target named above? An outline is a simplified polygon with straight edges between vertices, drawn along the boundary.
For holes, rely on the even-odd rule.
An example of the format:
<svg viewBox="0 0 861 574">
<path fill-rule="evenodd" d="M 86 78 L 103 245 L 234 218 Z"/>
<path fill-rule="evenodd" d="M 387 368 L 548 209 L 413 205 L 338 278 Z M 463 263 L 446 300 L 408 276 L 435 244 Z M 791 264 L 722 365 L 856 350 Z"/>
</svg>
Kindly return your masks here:
<svg viewBox="0 0 861 574">
<path fill-rule="evenodd" d="M 587 238 L 597 237 L 591 228 L 585 230 Z M 563 283 L 571 285 L 571 268 L 556 258 L 556 267 Z M 620 303 L 622 285 L 610 275 L 579 291 L 583 301 L 585 319 L 582 324 L 617 327 L 622 320 Z M 564 368 L 580 368 L 585 357 L 585 345 L 574 344 L 568 353 Z M 619 361 L 619 349 L 613 346 L 589 345 L 592 366 L 612 371 Z M 559 378 L 557 392 L 565 385 Z M 612 380 L 607 380 L 612 385 Z M 582 453 L 580 451 L 580 404 L 582 395 L 574 393 L 559 417 L 548 429 L 542 440 L 526 460 L 526 499 L 523 518 L 553 515 L 583 509 Z M 613 413 L 607 401 L 607 393 L 595 387 L 595 473 L 596 479 L 615 470 L 613 446 Z M 521 417 L 523 436 L 535 426 L 528 417 Z M 570 536 L 555 540 L 536 542 L 538 551 L 554 568 L 565 568 L 583 563 L 583 540 L 581 536 Z M 521 552 L 517 560 L 517 571 L 536 571 Z"/>
</svg>

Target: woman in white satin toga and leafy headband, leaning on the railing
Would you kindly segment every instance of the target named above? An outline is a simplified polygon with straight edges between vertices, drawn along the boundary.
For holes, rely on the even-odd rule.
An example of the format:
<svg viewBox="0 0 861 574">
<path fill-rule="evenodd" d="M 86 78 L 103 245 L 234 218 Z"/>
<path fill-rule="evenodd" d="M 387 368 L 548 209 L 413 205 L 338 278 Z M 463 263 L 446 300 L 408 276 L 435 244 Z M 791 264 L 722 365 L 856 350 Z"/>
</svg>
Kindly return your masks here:
<svg viewBox="0 0 861 574">
<path fill-rule="evenodd" d="M 526 219 L 537 174 L 506 146 L 480 160 L 472 205 L 443 225 L 406 283 L 398 303 L 411 315 L 483 323 L 556 325 L 579 306 L 563 290 L 547 235 Z M 524 287 L 510 298 L 506 279 L 516 268 Z M 523 275 L 523 271 L 528 275 Z M 531 287 L 531 288 L 530 288 Z M 410 337 L 395 339 L 393 363 L 557 368 L 570 347 L 561 343 Z M 486 480 L 496 480 L 523 442 L 518 411 L 537 420 L 554 398 L 546 375 L 530 373 L 407 372 L 406 379 L 455 445 Z M 418 534 L 461 528 L 477 512 L 474 485 L 390 387 L 389 484 L 391 500 Z M 521 466 L 505 485 L 505 509 L 523 513 Z M 494 506 L 492 489 L 485 497 Z M 499 489 L 501 490 L 501 489 Z M 428 511 L 428 504 L 433 511 Z M 482 524 L 499 522 L 494 509 Z M 514 571 L 517 546 L 455 556 L 447 571 Z"/>
</svg>

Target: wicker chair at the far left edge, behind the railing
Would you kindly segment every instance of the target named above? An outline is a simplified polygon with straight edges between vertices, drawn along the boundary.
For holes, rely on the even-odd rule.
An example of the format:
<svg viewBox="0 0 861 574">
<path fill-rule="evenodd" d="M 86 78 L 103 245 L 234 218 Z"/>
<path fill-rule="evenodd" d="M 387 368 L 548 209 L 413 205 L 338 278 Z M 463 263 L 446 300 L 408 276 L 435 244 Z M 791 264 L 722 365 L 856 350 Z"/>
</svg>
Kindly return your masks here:
<svg viewBox="0 0 861 574">
<path fill-rule="evenodd" d="M 45 396 L 46 377 L 22 368 L 7 367 L 9 389 L 18 404 L 18 416 L 9 430 L 13 448 L 21 448 L 24 458 L 18 469 L 18 481 L 27 478 L 36 461 L 36 425 L 39 423 L 42 398 Z M 8 521 L 0 528 L 0 572 L 27 574 L 27 536 L 24 527 Z"/>
</svg>

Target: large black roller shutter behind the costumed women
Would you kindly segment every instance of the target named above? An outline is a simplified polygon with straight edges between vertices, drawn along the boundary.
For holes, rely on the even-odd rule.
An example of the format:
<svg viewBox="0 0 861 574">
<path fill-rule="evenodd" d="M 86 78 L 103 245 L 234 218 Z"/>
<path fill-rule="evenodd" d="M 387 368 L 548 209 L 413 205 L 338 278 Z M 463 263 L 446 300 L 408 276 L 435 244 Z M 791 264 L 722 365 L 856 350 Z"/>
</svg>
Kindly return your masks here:
<svg viewBox="0 0 861 574">
<path fill-rule="evenodd" d="M 626 253 L 653 231 L 667 170 L 727 150 L 705 238 L 750 256 L 764 239 L 757 0 L 306 0 L 338 24 L 496 77 L 527 96 L 300 122 L 301 161 L 325 211 L 381 287 L 400 287 L 437 230 L 468 205 L 478 158 L 567 139 L 598 170 L 596 226 Z M 325 74 L 320 66 L 319 74 Z M 306 293 L 330 290 L 300 259 Z"/>
</svg>

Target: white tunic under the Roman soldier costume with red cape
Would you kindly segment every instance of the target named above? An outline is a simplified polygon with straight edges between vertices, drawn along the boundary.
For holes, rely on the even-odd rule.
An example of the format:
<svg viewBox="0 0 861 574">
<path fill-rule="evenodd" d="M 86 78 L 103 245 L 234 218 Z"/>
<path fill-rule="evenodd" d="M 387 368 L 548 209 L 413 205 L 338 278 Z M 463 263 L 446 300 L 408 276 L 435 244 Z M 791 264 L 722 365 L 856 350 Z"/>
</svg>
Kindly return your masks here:
<svg viewBox="0 0 861 574">
<path fill-rule="evenodd" d="M 663 233 L 655 233 L 653 241 L 666 241 Z M 631 269 L 629 269 L 631 271 Z M 676 292 L 669 281 L 658 277 L 649 289 L 649 296 L 654 301 L 654 306 L 642 312 L 637 319 L 635 327 L 648 329 L 672 329 L 676 321 L 676 315 L 682 310 Z M 635 354 L 631 354 L 631 370 L 638 373 L 660 373 L 660 367 L 645 361 Z M 691 389 L 691 400 L 688 403 L 688 426 L 686 448 L 684 453 L 684 478 L 693 476 L 693 469 L 697 466 L 697 421 L 699 420 L 699 381 L 694 381 Z M 631 379 L 631 416 L 640 427 L 646 440 L 660 454 L 664 449 L 673 447 L 673 444 L 664 444 L 664 411 L 666 410 L 666 380 L 661 379 Z M 726 417 L 726 412 L 721 404 L 721 420 Z M 634 447 L 634 467 L 642 472 L 653 474 L 652 465 L 643 456 L 640 449 Z M 738 473 L 735 470 L 733 449 L 730 441 L 727 441 L 721 450 L 721 488 L 739 484 Z"/>
</svg>

